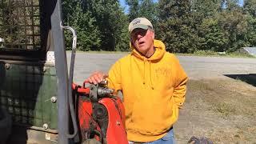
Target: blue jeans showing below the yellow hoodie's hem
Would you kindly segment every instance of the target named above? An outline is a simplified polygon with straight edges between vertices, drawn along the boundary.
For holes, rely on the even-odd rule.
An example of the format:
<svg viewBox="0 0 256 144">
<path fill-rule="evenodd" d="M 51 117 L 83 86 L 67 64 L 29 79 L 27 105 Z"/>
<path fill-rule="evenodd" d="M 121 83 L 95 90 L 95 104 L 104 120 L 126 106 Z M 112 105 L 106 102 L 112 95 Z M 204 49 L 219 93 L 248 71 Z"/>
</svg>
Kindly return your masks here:
<svg viewBox="0 0 256 144">
<path fill-rule="evenodd" d="M 129 144 L 133 144 L 133 143 L 134 142 L 129 142 Z M 162 137 L 156 141 L 145 142 L 143 144 L 175 144 L 174 129 L 171 129 L 164 137 Z"/>
</svg>

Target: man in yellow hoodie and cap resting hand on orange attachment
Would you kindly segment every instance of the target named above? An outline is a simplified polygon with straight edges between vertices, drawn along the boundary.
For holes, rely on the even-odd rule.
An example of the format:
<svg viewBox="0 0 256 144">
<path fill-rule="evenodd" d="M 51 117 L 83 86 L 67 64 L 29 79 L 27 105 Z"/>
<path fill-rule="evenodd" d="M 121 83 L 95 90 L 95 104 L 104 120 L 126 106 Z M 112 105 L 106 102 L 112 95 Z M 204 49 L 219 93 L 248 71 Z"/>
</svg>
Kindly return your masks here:
<svg viewBox="0 0 256 144">
<path fill-rule="evenodd" d="M 148 19 L 135 18 L 129 32 L 132 52 L 115 62 L 109 74 L 94 72 L 87 80 L 96 84 L 107 78 L 110 88 L 122 90 L 130 143 L 172 144 L 188 78 L 174 54 L 154 40 Z"/>
</svg>

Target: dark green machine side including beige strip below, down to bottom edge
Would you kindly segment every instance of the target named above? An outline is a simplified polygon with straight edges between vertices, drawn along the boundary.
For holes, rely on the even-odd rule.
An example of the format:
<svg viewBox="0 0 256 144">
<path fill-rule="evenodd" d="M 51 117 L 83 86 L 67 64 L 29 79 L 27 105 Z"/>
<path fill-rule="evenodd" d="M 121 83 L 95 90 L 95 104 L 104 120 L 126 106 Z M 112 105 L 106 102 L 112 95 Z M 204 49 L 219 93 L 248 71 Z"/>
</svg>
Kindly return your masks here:
<svg viewBox="0 0 256 144">
<path fill-rule="evenodd" d="M 0 104 L 12 116 L 9 142 L 45 143 L 58 134 L 57 79 L 53 65 L 0 61 Z M 44 133 L 45 132 L 45 133 Z M 22 134 L 23 133 L 23 134 Z M 46 142 L 47 142 L 46 141 Z"/>
</svg>

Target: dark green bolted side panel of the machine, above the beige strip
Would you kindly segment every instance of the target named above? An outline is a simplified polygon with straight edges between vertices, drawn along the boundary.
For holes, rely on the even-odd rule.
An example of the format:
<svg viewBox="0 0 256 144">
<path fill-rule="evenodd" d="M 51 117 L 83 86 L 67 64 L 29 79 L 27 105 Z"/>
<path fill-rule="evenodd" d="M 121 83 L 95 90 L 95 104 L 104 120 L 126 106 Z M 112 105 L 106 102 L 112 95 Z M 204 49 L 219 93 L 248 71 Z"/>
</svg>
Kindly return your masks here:
<svg viewBox="0 0 256 144">
<path fill-rule="evenodd" d="M 13 116 L 13 122 L 57 129 L 56 70 L 29 62 L 0 62 L 1 107 Z"/>
</svg>

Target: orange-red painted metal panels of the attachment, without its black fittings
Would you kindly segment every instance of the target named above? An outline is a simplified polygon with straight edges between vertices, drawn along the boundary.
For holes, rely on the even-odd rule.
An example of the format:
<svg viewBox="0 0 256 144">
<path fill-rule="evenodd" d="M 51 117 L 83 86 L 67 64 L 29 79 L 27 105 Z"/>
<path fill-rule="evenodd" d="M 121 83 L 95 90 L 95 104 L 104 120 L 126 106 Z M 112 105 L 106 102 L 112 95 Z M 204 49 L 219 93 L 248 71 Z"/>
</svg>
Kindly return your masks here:
<svg viewBox="0 0 256 144">
<path fill-rule="evenodd" d="M 85 82 L 86 83 L 86 82 Z M 80 134 L 82 135 L 82 142 L 90 138 L 88 132 L 90 132 L 92 125 L 98 132 L 101 133 L 100 126 L 95 122 L 93 118 L 93 103 L 90 102 L 90 88 L 84 86 L 78 86 L 73 84 L 73 90 L 78 92 L 78 123 Z M 122 104 L 122 100 L 114 95 L 105 98 L 99 98 L 98 103 L 106 107 L 108 114 L 108 125 L 106 130 L 106 142 L 107 144 L 127 144 L 125 129 L 125 109 Z M 100 138 L 97 134 L 94 138 L 98 141 Z"/>
</svg>

